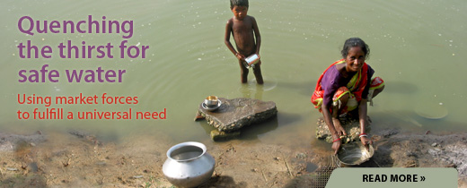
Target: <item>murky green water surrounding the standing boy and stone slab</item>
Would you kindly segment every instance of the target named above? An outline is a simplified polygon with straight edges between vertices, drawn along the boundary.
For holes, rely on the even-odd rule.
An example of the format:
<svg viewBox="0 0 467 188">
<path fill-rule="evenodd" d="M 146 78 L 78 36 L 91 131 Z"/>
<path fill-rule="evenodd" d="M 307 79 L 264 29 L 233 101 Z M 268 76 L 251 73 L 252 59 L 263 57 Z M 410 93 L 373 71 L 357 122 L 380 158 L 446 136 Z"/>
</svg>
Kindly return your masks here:
<svg viewBox="0 0 467 188">
<path fill-rule="evenodd" d="M 225 22 L 233 16 L 228 1 L 9 1 L 1 8 L 2 69 L 0 128 L 5 132 L 83 129 L 109 137 L 168 134 L 175 141 L 206 140 L 206 122 L 194 122 L 198 104 L 208 95 L 222 98 L 273 100 L 278 117 L 249 129 L 243 139 L 309 144 L 321 115 L 310 102 L 315 81 L 338 60 L 345 39 L 360 37 L 371 48 L 367 61 L 386 81 L 386 90 L 369 108 L 374 128 L 402 127 L 408 131 L 465 132 L 467 104 L 467 3 L 449 1 L 251 1 L 249 14 L 258 21 L 264 86 L 250 75 L 240 83 L 237 61 L 225 47 Z M 16 46 L 31 40 L 38 46 L 111 42 L 120 34 L 36 34 L 18 30 L 28 15 L 39 21 L 81 21 L 93 15 L 107 20 L 134 21 L 128 45 L 149 46 L 146 58 L 22 59 Z M 56 53 L 54 52 L 54 55 Z M 66 69 L 126 70 L 122 83 L 20 83 L 21 69 L 64 73 Z M 252 73 L 251 73 L 252 74 Z M 137 105 L 67 105 L 65 111 L 157 111 L 166 120 L 18 120 L 18 94 L 36 96 L 138 97 Z M 55 106 L 58 107 L 58 106 Z M 432 109 L 440 108 L 440 109 Z M 445 110 L 445 111 L 443 111 Z M 439 115 L 428 119 L 417 112 Z M 420 113 L 419 113 L 420 114 Z"/>
</svg>

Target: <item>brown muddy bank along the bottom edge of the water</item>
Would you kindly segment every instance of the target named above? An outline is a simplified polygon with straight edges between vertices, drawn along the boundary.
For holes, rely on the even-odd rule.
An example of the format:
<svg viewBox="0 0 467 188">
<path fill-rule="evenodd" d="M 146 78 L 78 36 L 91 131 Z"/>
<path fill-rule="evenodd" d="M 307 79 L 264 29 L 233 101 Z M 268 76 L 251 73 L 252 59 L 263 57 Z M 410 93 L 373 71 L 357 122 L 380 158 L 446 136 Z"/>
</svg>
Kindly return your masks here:
<svg viewBox="0 0 467 188">
<path fill-rule="evenodd" d="M 466 133 L 374 134 L 374 158 L 360 167 L 454 167 L 466 184 Z M 251 141 L 203 141 L 216 158 L 200 187 L 310 187 L 331 171 L 330 150 L 288 148 Z M 163 135 L 101 141 L 85 132 L 0 134 L 1 187 L 171 187 L 163 177 Z M 313 179 L 314 178 L 314 179 Z"/>
</svg>

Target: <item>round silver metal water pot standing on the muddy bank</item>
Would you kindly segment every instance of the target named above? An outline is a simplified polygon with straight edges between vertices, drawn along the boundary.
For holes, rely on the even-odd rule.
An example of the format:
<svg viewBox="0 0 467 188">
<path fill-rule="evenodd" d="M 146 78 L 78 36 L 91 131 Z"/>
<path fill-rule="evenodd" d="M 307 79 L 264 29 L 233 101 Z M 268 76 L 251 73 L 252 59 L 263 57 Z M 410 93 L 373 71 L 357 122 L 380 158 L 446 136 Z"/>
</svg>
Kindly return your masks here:
<svg viewBox="0 0 467 188">
<path fill-rule="evenodd" d="M 177 187 L 195 187 L 213 175 L 215 159 L 206 151 L 206 146 L 188 141 L 172 146 L 163 163 L 163 175 Z"/>
</svg>

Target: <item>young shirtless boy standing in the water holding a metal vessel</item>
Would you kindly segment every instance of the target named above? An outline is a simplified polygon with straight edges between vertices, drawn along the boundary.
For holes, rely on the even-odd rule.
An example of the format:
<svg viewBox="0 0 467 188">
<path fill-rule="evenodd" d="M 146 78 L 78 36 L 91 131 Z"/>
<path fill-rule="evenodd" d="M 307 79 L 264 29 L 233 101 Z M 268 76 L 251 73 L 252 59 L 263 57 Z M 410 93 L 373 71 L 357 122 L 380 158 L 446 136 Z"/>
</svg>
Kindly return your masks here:
<svg viewBox="0 0 467 188">
<path fill-rule="evenodd" d="M 246 83 L 248 81 L 248 68 L 243 63 L 245 62 L 245 57 L 254 54 L 260 56 L 260 30 L 258 30 L 256 20 L 252 16 L 247 15 L 248 0 L 230 0 L 230 10 L 234 13 L 234 17 L 227 21 L 225 25 L 225 45 L 237 57 L 241 69 L 242 83 Z M 237 50 L 230 43 L 231 33 L 234 36 Z M 263 84 L 260 64 L 261 62 L 254 65 L 253 73 L 256 77 L 256 82 Z"/>
</svg>

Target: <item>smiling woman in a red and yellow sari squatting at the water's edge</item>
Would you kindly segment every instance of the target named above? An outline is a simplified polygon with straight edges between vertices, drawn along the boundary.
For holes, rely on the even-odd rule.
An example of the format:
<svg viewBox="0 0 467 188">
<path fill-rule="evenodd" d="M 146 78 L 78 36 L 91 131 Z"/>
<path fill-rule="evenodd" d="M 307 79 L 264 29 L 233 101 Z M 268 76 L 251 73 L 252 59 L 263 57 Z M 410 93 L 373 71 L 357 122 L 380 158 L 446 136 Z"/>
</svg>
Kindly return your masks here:
<svg viewBox="0 0 467 188">
<path fill-rule="evenodd" d="M 354 109 L 358 111 L 360 124 L 360 141 L 366 146 L 370 143 L 365 128 L 367 123 L 367 105 L 372 104 L 384 89 L 380 77 L 372 79 L 374 70 L 365 63 L 370 48 L 360 38 L 348 38 L 344 43 L 341 55 L 343 59 L 330 64 L 320 76 L 313 92 L 312 102 L 322 112 L 324 122 L 328 125 L 332 136 L 332 150 L 340 149 L 340 137 L 347 135 L 339 122 L 339 115 Z"/>
</svg>

